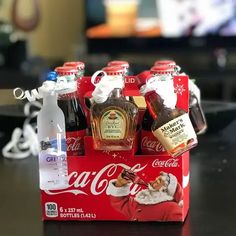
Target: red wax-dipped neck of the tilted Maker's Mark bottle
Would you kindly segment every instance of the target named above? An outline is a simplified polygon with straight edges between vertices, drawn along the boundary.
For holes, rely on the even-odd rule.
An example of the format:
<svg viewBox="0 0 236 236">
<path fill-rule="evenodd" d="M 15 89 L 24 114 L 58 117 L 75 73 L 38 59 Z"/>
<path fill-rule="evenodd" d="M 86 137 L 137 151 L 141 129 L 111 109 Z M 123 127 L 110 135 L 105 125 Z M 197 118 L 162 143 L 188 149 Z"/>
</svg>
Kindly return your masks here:
<svg viewBox="0 0 236 236">
<path fill-rule="evenodd" d="M 168 109 L 163 104 L 163 99 L 161 99 L 161 97 L 154 90 L 145 94 L 145 101 L 147 104 L 147 109 L 154 120 L 157 119 L 159 113 L 165 109 Z"/>
</svg>

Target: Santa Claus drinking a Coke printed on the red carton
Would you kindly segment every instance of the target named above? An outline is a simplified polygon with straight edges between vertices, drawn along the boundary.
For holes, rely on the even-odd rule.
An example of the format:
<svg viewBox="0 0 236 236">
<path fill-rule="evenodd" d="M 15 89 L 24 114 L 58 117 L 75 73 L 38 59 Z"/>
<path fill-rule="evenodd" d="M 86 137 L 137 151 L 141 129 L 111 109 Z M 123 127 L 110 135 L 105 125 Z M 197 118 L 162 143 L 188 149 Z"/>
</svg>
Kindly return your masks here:
<svg viewBox="0 0 236 236">
<path fill-rule="evenodd" d="M 132 183 L 146 185 L 134 197 Z M 145 183 L 132 171 L 124 170 L 109 184 L 111 205 L 133 221 L 181 221 L 183 190 L 171 173 L 160 172 L 156 179 Z"/>
</svg>

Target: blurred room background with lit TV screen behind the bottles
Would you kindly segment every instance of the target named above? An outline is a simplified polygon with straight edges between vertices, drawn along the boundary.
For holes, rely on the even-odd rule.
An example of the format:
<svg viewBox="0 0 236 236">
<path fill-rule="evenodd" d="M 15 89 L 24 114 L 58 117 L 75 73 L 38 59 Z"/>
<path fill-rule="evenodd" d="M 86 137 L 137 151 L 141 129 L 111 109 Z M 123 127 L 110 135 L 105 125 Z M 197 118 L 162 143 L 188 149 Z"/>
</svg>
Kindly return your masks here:
<svg viewBox="0 0 236 236">
<path fill-rule="evenodd" d="M 20 115 L 6 108 L 17 103 L 13 88 L 40 86 L 65 61 L 83 61 L 91 75 L 127 60 L 135 75 L 172 59 L 218 130 L 236 114 L 235 12 L 236 0 L 0 0 L 0 118 Z"/>
</svg>

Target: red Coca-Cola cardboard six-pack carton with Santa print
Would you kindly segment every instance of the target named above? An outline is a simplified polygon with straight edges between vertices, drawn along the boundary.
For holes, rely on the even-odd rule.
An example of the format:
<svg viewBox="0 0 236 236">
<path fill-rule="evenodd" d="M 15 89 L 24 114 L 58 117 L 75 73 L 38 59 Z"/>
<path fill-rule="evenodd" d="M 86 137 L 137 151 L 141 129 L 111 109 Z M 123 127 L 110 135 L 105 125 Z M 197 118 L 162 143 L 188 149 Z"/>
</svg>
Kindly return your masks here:
<svg viewBox="0 0 236 236">
<path fill-rule="evenodd" d="M 188 111 L 188 77 L 174 78 L 177 106 Z M 80 84 L 81 96 L 93 90 L 89 77 Z M 133 77 L 126 78 L 125 93 L 138 96 Z M 44 220 L 180 221 L 189 208 L 189 152 L 178 157 L 167 153 L 143 155 L 137 147 L 160 147 L 144 138 L 130 151 L 93 149 L 85 137 L 85 155 L 69 156 L 69 187 L 42 191 Z M 125 174 L 124 174 L 125 173 Z M 127 174 L 128 173 L 128 174 Z"/>
</svg>

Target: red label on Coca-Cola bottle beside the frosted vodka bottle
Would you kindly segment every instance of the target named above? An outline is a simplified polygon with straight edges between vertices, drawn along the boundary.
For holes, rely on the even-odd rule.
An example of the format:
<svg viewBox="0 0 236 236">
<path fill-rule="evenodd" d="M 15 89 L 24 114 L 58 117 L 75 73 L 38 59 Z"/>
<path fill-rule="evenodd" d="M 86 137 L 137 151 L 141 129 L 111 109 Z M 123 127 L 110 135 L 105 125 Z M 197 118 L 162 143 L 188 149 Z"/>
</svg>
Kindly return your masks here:
<svg viewBox="0 0 236 236">
<path fill-rule="evenodd" d="M 66 132 L 67 156 L 84 155 L 84 136 L 86 130 Z"/>
</svg>

